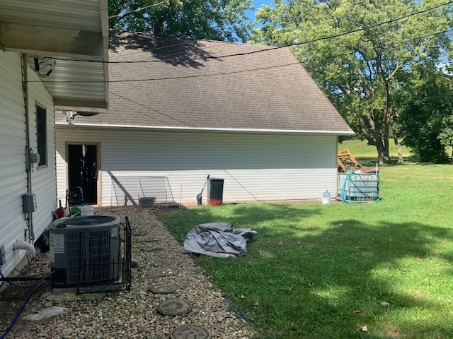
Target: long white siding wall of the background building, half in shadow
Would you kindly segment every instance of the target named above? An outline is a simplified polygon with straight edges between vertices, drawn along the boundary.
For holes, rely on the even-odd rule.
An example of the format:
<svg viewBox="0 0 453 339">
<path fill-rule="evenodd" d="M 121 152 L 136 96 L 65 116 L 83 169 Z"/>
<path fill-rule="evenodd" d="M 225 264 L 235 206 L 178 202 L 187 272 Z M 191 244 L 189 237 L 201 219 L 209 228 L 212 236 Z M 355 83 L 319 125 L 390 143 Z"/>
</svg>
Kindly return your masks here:
<svg viewBox="0 0 453 339">
<path fill-rule="evenodd" d="M 157 196 L 157 202 L 196 203 L 207 174 L 224 179 L 226 203 L 321 200 L 323 191 L 336 189 L 336 136 L 81 130 L 59 125 L 59 197 L 66 189 L 66 143 L 100 145 L 104 206 L 122 205 L 125 196 L 136 201 L 143 193 Z M 207 189 L 204 203 L 206 193 Z"/>
</svg>

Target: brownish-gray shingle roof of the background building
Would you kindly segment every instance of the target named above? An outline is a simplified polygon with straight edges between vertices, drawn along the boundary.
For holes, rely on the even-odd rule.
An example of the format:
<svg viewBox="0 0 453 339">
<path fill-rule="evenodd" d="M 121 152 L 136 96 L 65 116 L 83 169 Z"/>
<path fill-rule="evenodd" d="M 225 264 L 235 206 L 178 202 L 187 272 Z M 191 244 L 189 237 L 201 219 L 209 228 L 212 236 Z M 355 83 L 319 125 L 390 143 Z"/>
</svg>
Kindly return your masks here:
<svg viewBox="0 0 453 339">
<path fill-rule="evenodd" d="M 111 31 L 109 61 L 108 113 L 76 122 L 352 132 L 287 48 Z"/>
</svg>

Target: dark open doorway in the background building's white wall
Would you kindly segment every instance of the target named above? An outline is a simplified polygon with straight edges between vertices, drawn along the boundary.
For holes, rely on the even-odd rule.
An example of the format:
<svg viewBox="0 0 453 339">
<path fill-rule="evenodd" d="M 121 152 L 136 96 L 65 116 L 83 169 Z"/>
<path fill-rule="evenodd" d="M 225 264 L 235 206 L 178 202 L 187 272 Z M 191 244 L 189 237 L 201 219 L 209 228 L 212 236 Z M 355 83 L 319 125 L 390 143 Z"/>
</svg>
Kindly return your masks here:
<svg viewBox="0 0 453 339">
<path fill-rule="evenodd" d="M 98 145 L 68 145 L 68 180 L 81 187 L 86 204 L 98 203 Z"/>
</svg>

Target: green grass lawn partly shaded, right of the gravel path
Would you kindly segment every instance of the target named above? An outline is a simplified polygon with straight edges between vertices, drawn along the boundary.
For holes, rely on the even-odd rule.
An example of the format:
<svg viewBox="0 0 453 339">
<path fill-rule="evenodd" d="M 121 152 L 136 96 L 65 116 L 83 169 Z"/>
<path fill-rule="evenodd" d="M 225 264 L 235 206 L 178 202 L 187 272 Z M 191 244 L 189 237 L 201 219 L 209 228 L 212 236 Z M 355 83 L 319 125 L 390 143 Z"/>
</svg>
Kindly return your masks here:
<svg viewBox="0 0 453 339">
<path fill-rule="evenodd" d="M 160 218 L 180 240 L 203 222 L 258 232 L 241 258 L 196 261 L 259 338 L 452 338 L 453 167 L 406 163 L 380 176 L 379 203 L 199 206 Z"/>
</svg>

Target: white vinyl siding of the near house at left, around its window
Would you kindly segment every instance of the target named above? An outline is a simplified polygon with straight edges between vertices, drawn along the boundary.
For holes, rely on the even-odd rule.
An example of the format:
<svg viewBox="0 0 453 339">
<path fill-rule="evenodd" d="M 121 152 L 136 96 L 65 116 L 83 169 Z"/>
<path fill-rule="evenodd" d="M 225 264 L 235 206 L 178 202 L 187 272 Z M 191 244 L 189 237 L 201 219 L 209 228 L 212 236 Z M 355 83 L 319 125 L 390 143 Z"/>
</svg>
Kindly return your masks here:
<svg viewBox="0 0 453 339">
<path fill-rule="evenodd" d="M 30 80 L 38 80 L 28 69 Z M 22 91 L 21 54 L 0 51 L 0 244 L 5 246 L 6 265 L 4 274 L 21 261 L 25 251 L 13 251 L 13 243 L 24 239 L 28 229 L 24 219 L 22 195 L 27 193 L 25 168 L 25 109 Z M 42 83 L 30 83 L 30 147 L 36 151 L 35 102 L 45 105 L 48 114 L 47 131 L 50 138 L 49 163 L 55 163 L 55 125 L 52 98 Z M 55 206 L 55 165 L 32 172 L 32 191 L 36 194 L 37 210 L 33 213 L 35 238 L 45 230 L 52 218 Z"/>
</svg>

